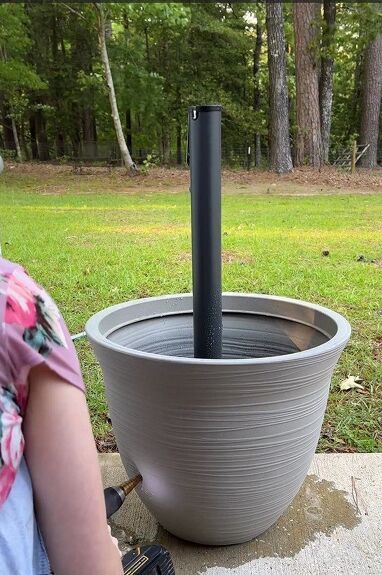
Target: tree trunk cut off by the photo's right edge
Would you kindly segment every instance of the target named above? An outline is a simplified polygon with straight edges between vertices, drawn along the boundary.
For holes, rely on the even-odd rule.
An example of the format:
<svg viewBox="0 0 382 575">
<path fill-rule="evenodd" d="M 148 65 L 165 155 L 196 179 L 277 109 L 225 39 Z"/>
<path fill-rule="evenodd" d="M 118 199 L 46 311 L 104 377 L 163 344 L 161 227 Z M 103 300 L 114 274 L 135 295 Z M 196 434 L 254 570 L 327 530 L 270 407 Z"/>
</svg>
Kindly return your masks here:
<svg viewBox="0 0 382 575">
<path fill-rule="evenodd" d="M 378 156 L 379 115 L 382 96 L 382 35 L 377 36 L 365 50 L 360 144 L 370 144 L 359 165 L 376 168 Z"/>
</svg>

